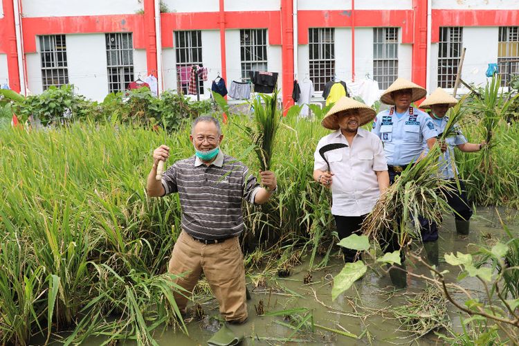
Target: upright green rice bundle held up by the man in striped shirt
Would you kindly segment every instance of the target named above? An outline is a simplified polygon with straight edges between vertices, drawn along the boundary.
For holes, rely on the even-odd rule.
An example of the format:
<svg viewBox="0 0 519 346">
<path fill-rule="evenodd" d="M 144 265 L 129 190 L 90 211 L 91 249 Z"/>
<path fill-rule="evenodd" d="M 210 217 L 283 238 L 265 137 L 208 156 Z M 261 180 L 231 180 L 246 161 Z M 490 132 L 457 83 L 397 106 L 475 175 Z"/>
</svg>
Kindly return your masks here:
<svg viewBox="0 0 519 346">
<path fill-rule="evenodd" d="M 260 94 L 254 98 L 251 102 L 254 108 L 254 123 L 242 127 L 248 142 L 254 145 L 261 170 L 271 167 L 275 135 L 283 116 L 281 108 L 277 107 L 277 93 L 277 89 L 274 89 L 272 95 Z"/>
</svg>

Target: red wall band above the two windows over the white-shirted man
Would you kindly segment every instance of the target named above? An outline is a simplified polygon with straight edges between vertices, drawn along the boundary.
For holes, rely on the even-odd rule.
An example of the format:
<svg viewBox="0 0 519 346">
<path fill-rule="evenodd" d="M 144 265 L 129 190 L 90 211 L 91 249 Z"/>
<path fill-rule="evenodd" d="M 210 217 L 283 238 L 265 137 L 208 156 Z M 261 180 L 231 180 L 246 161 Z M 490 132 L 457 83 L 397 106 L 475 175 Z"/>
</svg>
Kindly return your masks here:
<svg viewBox="0 0 519 346">
<path fill-rule="evenodd" d="M 298 41 L 308 44 L 309 28 L 346 28 L 352 26 L 349 10 L 300 10 L 298 11 Z M 412 10 L 355 10 L 355 26 L 402 28 L 402 43 L 412 43 Z"/>
</svg>

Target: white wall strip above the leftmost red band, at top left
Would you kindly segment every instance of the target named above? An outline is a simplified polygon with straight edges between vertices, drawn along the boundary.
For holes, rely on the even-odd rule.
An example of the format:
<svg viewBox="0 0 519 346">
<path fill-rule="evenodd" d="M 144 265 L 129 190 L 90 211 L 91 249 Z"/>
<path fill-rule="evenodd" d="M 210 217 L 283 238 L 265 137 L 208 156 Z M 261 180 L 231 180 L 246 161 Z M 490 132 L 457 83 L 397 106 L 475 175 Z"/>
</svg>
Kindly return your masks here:
<svg viewBox="0 0 519 346">
<path fill-rule="evenodd" d="M 24 17 L 127 15 L 143 10 L 139 0 L 22 0 Z"/>
</svg>

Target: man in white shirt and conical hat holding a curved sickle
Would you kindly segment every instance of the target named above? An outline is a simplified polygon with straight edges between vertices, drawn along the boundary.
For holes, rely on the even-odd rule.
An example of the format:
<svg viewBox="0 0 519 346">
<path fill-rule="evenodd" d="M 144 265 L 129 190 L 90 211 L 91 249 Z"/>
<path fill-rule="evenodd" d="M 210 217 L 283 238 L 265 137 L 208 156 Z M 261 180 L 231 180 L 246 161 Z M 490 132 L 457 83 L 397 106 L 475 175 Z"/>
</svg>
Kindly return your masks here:
<svg viewBox="0 0 519 346">
<path fill-rule="evenodd" d="M 321 138 L 314 153 L 313 179 L 331 189 L 331 214 L 340 239 L 358 233 L 389 186 L 388 165 L 378 136 L 362 129 L 376 113 L 352 98 L 340 98 L 321 125 L 336 130 Z M 343 248 L 345 262 L 357 253 Z"/>
</svg>

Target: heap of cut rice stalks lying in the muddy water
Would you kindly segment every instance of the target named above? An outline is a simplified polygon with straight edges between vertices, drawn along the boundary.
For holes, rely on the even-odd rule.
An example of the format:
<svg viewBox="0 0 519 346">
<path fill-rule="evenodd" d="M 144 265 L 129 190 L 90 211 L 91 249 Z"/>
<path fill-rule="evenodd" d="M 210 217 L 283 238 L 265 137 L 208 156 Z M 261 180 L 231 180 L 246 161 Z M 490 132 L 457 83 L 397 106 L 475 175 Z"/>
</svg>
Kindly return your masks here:
<svg viewBox="0 0 519 346">
<path fill-rule="evenodd" d="M 441 327 L 450 327 L 447 300 L 437 286 L 426 286 L 415 298 L 409 298 L 407 304 L 394 307 L 393 313 L 402 323 L 401 329 L 418 336 L 424 336 Z"/>
</svg>

